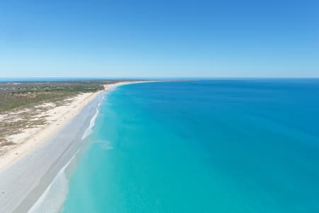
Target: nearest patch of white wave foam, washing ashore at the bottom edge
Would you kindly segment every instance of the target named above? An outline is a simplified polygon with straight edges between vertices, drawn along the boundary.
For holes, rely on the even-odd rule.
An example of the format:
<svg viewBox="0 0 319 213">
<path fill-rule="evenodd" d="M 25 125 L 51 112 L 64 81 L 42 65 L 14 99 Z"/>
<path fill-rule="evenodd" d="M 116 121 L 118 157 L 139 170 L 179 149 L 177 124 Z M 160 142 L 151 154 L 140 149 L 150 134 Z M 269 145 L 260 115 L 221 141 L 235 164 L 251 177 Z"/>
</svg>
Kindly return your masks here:
<svg viewBox="0 0 319 213">
<path fill-rule="evenodd" d="M 77 153 L 78 152 L 79 151 L 77 151 Z M 77 153 L 75 153 L 75 155 L 77 155 Z M 57 173 L 53 181 L 37 202 L 33 204 L 33 207 L 31 207 L 28 213 L 56 213 L 60 211 L 69 190 L 69 181 L 65 175 L 65 169 L 74 159 L 75 155 L 73 155 L 69 162 Z"/>
</svg>

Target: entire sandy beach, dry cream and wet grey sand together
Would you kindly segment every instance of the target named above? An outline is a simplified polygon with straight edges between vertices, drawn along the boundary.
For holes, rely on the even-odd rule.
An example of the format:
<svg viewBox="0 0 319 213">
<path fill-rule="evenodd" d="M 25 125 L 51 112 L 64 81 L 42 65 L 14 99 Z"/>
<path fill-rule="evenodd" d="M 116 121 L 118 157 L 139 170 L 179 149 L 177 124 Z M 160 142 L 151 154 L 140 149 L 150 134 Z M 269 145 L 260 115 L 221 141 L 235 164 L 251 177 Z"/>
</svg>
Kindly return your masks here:
<svg viewBox="0 0 319 213">
<path fill-rule="evenodd" d="M 27 212 L 59 170 L 79 150 L 82 135 L 106 92 L 133 81 L 80 94 L 41 116 L 47 122 L 10 136 L 18 144 L 0 158 L 0 212 Z"/>
</svg>

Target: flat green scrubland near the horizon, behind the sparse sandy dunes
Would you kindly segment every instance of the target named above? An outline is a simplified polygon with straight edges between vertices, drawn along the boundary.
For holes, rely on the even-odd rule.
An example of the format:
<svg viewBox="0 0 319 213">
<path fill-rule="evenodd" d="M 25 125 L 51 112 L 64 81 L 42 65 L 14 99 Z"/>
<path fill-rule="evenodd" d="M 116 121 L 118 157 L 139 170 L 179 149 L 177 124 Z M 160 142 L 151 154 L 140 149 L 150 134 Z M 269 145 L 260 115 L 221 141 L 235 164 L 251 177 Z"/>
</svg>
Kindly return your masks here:
<svg viewBox="0 0 319 213">
<path fill-rule="evenodd" d="M 81 80 L 60 82 L 0 83 L 0 114 L 8 110 L 32 107 L 41 102 L 59 102 L 84 92 L 96 92 L 103 84 L 119 80 Z"/>
</svg>

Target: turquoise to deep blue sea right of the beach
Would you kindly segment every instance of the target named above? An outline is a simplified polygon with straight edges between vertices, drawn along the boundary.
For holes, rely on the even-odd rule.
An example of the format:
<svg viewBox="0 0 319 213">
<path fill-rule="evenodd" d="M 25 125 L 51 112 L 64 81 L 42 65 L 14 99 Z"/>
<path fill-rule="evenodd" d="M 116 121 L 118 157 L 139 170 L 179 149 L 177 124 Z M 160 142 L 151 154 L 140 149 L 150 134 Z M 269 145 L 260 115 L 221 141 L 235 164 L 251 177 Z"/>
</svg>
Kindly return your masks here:
<svg viewBox="0 0 319 213">
<path fill-rule="evenodd" d="M 319 80 L 118 87 L 62 212 L 319 212 Z"/>
</svg>

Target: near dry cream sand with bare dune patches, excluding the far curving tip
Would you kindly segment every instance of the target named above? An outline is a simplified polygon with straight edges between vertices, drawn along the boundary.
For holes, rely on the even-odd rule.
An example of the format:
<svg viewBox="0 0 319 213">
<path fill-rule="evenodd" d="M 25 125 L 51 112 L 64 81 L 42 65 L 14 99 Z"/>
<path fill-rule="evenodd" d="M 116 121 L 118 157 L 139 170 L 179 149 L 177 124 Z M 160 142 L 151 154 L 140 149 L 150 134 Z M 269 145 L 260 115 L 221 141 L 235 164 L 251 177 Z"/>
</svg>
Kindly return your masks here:
<svg viewBox="0 0 319 213">
<path fill-rule="evenodd" d="M 75 115 L 83 109 L 86 104 L 91 102 L 100 92 L 88 92 L 84 94 L 78 94 L 76 97 L 69 98 L 65 103 L 57 105 L 52 102 L 40 104 L 35 106 L 35 109 L 45 108 L 43 111 L 38 111 L 32 116 L 31 122 L 36 122 L 36 125 L 25 126 L 25 128 L 19 129 L 19 133 L 14 133 L 6 137 L 7 144 L 11 146 L 2 147 L 2 155 L 0 156 L 0 168 L 4 168 L 6 165 L 15 160 L 21 158 L 23 155 L 28 153 L 30 150 L 38 146 L 47 138 L 57 133 L 67 124 Z M 18 111 L 13 116 L 16 120 L 13 122 L 21 121 L 19 114 L 26 113 L 25 111 Z M 12 114 L 4 116 L 3 122 L 12 121 L 9 119 Z"/>
</svg>

